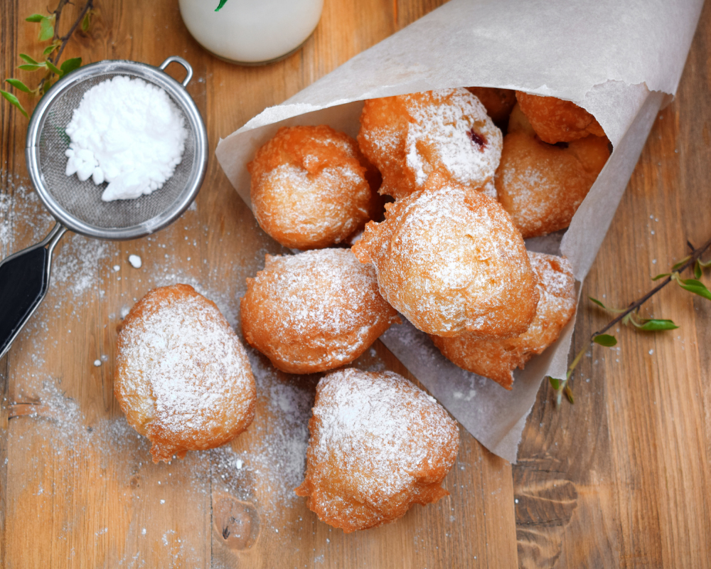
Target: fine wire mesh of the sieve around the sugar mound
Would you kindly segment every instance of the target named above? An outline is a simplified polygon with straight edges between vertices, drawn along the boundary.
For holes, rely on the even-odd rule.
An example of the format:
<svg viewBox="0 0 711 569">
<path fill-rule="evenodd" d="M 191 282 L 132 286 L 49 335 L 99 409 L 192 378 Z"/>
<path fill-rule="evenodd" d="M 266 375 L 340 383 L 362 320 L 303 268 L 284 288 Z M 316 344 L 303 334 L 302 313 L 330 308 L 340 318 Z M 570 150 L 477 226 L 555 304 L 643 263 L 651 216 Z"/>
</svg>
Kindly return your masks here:
<svg viewBox="0 0 711 569">
<path fill-rule="evenodd" d="M 75 174 L 73 176 L 65 174 L 67 157 L 64 153 L 70 143 L 65 128 L 72 119 L 73 112 L 79 106 L 84 93 L 102 81 L 111 79 L 114 75 L 137 76 L 122 70 L 117 73 L 96 75 L 70 87 L 62 96 L 53 100 L 48 108 L 38 142 L 38 166 L 47 191 L 69 216 L 102 229 L 141 225 L 168 211 L 183 193 L 188 191 L 188 182 L 196 160 L 196 134 L 193 132 L 181 103 L 166 91 L 183 116 L 188 137 L 181 163 L 176 166 L 173 176 L 166 181 L 162 188 L 149 196 L 105 202 L 102 201 L 101 195 L 108 185 L 106 182 L 97 186 L 91 179 L 82 182 Z M 161 85 L 151 82 L 143 75 L 140 78 L 162 88 Z"/>
</svg>

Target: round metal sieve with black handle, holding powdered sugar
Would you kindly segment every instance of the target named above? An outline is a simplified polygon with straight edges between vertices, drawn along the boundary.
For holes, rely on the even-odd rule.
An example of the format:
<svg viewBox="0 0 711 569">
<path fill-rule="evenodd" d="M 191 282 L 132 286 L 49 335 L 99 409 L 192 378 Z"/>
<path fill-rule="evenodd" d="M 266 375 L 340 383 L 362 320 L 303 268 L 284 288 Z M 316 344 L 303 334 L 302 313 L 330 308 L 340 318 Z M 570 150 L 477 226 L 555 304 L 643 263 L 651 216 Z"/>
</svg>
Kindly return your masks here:
<svg viewBox="0 0 711 569">
<path fill-rule="evenodd" d="M 178 83 L 164 69 L 170 63 L 186 71 Z M 66 176 L 65 133 L 84 93 L 116 75 L 141 78 L 161 87 L 183 115 L 188 137 L 183 159 L 164 186 L 148 196 L 105 202 L 107 185 Z M 200 190 L 208 162 L 208 137 L 200 112 L 185 87 L 193 77 L 190 64 L 177 56 L 158 68 L 134 61 L 100 61 L 58 80 L 42 97 L 27 130 L 25 158 L 32 184 L 42 203 L 57 220 L 49 235 L 30 248 L 0 262 L 0 358 L 45 297 L 52 252 L 67 230 L 97 239 L 137 239 L 169 225 L 185 211 Z"/>
</svg>

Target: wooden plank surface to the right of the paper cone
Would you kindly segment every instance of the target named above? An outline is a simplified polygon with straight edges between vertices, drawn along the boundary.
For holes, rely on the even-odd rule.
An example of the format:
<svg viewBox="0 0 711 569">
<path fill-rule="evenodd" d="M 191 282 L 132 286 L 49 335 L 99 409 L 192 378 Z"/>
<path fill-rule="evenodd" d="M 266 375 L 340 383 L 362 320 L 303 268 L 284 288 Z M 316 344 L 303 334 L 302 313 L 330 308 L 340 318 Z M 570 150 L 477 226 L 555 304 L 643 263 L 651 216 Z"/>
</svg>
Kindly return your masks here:
<svg viewBox="0 0 711 569">
<path fill-rule="evenodd" d="M 687 239 L 709 238 L 710 48 L 705 6 L 678 97 L 653 127 L 583 298 L 624 306 L 687 254 Z M 609 320 L 591 306 L 575 350 Z M 574 406 L 556 410 L 547 386 L 538 395 L 513 468 L 521 567 L 711 565 L 711 307 L 667 287 L 643 314 L 680 329 L 615 331 L 616 349 L 584 358 Z"/>
</svg>

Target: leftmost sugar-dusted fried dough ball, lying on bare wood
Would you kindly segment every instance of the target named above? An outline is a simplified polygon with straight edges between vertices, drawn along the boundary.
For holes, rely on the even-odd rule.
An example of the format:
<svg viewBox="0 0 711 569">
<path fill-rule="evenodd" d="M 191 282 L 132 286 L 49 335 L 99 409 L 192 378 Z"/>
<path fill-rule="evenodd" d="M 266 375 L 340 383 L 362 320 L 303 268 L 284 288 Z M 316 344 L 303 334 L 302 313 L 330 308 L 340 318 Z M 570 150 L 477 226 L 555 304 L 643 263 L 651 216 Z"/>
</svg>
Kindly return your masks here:
<svg viewBox="0 0 711 569">
<path fill-rule="evenodd" d="M 153 462 L 219 447 L 255 417 L 257 390 L 237 334 L 189 285 L 151 290 L 119 331 L 114 395 Z"/>
</svg>

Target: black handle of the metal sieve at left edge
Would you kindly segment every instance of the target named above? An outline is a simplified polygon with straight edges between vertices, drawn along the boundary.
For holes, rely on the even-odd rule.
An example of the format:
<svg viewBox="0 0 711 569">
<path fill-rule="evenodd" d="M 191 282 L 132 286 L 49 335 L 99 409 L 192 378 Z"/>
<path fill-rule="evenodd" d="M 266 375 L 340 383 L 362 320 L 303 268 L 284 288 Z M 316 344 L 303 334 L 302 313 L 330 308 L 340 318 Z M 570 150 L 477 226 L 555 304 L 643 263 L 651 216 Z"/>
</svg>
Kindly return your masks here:
<svg viewBox="0 0 711 569">
<path fill-rule="evenodd" d="M 40 243 L 0 262 L 0 358 L 47 294 L 52 252 L 66 230 L 57 223 Z"/>
</svg>

